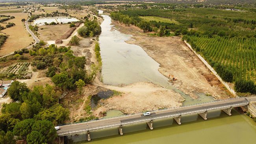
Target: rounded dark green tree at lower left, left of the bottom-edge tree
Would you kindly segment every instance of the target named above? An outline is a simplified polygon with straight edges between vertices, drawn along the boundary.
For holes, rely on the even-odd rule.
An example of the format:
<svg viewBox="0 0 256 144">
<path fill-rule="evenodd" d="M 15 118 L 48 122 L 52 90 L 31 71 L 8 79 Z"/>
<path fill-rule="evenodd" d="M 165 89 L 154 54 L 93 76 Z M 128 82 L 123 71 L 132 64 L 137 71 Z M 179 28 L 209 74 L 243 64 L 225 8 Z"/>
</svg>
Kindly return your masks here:
<svg viewBox="0 0 256 144">
<path fill-rule="evenodd" d="M 33 119 L 22 120 L 15 125 L 13 133 L 22 137 L 23 139 L 26 139 L 27 135 L 32 131 L 32 126 L 34 123 L 35 120 Z"/>
</svg>

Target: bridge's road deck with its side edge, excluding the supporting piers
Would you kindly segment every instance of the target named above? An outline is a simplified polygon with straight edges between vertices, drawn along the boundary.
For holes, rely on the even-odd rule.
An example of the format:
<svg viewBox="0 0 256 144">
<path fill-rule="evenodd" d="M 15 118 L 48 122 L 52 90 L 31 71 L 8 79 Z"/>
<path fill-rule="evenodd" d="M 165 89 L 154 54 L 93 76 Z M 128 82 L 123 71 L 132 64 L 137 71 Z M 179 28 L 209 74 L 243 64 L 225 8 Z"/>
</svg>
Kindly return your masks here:
<svg viewBox="0 0 256 144">
<path fill-rule="evenodd" d="M 176 117 L 180 115 L 188 115 L 191 113 L 201 113 L 198 111 L 213 111 L 217 109 L 222 109 L 221 107 L 230 107 L 233 105 L 241 105 L 241 102 L 249 103 L 256 102 L 256 96 L 248 97 L 248 98 L 236 98 L 229 99 L 223 101 L 216 101 L 211 103 L 202 103 L 198 105 L 191 105 L 186 107 L 178 107 L 175 109 L 165 109 L 161 111 L 154 111 L 150 116 L 143 116 L 143 114 L 132 114 L 127 116 L 121 116 L 117 118 L 109 118 L 109 119 L 101 119 L 90 122 L 83 122 L 78 124 L 70 124 L 65 126 L 59 126 L 59 130 L 57 131 L 59 136 L 64 135 L 74 135 L 76 133 L 85 132 L 87 130 L 94 131 L 100 129 L 107 129 L 111 127 L 118 127 L 120 125 L 125 126 L 129 124 L 149 122 L 150 120 L 160 120 L 164 119 L 164 116 Z M 246 104 L 245 104 L 246 105 Z M 223 108 L 224 109 L 224 108 Z"/>
</svg>

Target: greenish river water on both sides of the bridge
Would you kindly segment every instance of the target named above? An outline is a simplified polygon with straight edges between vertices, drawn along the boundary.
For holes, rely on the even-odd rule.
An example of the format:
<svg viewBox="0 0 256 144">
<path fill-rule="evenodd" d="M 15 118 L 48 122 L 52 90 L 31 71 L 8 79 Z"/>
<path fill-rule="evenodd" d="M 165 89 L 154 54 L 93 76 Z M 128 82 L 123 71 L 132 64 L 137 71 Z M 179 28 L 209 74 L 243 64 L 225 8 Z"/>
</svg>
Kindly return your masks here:
<svg viewBox="0 0 256 144">
<path fill-rule="evenodd" d="M 101 13 L 102 11 L 100 11 Z M 151 59 L 144 50 L 137 45 L 127 44 L 127 35 L 113 30 L 111 18 L 102 15 L 102 33 L 99 38 L 102 56 L 103 81 L 109 85 L 130 84 L 138 81 L 151 81 L 158 85 L 173 89 L 180 93 L 186 101 L 184 105 L 209 102 L 212 97 L 197 94 L 198 100 L 193 100 L 180 90 L 169 85 L 168 79 L 158 72 L 159 64 Z M 121 111 L 108 111 L 107 116 L 122 115 Z M 222 111 L 209 112 L 208 120 L 198 115 L 184 116 L 182 125 L 178 126 L 173 119 L 153 122 L 154 130 L 150 131 L 147 124 L 124 126 L 124 135 L 118 134 L 118 129 L 108 129 L 91 132 L 91 144 L 156 144 L 156 143 L 198 143 L 198 144 L 237 144 L 256 143 L 256 122 L 239 114 L 234 109 L 232 116 Z M 70 143 L 85 144 L 86 135 L 70 136 Z M 72 142 L 73 141 L 73 142 Z"/>
</svg>

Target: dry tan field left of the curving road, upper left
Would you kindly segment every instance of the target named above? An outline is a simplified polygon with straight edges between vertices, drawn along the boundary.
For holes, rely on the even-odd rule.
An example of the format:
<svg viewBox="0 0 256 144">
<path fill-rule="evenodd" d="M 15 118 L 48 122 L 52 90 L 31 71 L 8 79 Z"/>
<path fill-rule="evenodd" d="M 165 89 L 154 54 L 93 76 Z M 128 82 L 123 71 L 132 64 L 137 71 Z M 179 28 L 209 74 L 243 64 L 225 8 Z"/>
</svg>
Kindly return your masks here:
<svg viewBox="0 0 256 144">
<path fill-rule="evenodd" d="M 0 56 L 9 54 L 15 50 L 25 48 L 29 46 L 30 43 L 34 42 L 32 37 L 29 37 L 28 31 L 24 26 L 24 23 L 21 22 L 22 18 L 27 18 L 26 13 L 4 13 L 3 15 L 14 16 L 14 19 L 7 20 L 5 23 L 14 22 L 15 26 L 2 30 L 2 33 L 9 35 L 6 42 L 0 48 Z M 6 26 L 6 24 L 1 24 Z"/>
</svg>

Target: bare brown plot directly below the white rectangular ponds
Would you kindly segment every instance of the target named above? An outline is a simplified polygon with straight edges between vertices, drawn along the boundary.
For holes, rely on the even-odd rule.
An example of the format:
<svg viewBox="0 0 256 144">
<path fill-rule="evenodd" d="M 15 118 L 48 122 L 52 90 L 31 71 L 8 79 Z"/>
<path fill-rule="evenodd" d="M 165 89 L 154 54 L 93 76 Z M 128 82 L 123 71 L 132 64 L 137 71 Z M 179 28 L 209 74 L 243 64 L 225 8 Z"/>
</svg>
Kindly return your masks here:
<svg viewBox="0 0 256 144">
<path fill-rule="evenodd" d="M 44 28 L 43 30 L 40 30 Z M 39 39 L 43 41 L 55 41 L 69 30 L 69 24 L 58 24 L 53 26 L 39 26 L 37 33 L 39 33 Z"/>
</svg>

